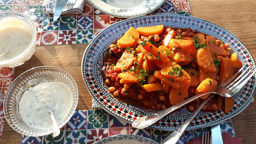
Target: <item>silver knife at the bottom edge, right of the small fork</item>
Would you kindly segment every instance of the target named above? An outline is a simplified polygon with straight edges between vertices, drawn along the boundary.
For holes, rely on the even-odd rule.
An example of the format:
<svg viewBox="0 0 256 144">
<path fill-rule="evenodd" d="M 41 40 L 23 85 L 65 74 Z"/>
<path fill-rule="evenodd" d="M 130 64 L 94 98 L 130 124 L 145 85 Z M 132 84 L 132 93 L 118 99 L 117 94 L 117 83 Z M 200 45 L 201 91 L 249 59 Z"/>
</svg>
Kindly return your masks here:
<svg viewBox="0 0 256 144">
<path fill-rule="evenodd" d="M 220 131 L 220 124 L 212 126 L 211 133 L 212 133 L 212 144 L 223 144 L 221 131 Z"/>
</svg>

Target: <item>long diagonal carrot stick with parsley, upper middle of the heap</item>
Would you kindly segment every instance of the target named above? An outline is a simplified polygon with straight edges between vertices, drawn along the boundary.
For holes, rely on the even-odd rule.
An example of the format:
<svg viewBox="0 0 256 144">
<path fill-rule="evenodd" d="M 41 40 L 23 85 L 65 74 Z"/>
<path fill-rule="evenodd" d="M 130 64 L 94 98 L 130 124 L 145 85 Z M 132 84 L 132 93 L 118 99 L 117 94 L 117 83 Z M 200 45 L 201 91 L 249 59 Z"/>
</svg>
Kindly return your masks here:
<svg viewBox="0 0 256 144">
<path fill-rule="evenodd" d="M 145 46 L 143 46 L 143 48 L 151 52 L 154 56 L 158 57 L 158 60 L 163 63 L 167 63 L 170 61 L 170 59 L 167 58 L 161 50 L 159 50 L 156 46 L 152 45 L 148 41 L 146 42 Z"/>
</svg>

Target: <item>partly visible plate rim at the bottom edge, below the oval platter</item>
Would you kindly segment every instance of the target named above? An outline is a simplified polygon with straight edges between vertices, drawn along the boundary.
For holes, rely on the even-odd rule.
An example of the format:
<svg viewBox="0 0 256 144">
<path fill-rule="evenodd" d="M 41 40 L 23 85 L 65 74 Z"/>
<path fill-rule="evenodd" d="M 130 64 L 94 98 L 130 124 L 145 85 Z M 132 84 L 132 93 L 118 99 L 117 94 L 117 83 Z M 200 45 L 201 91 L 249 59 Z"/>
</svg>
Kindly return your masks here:
<svg viewBox="0 0 256 144">
<path fill-rule="evenodd" d="M 113 135 L 93 144 L 157 144 L 155 141 L 138 135 Z"/>
</svg>

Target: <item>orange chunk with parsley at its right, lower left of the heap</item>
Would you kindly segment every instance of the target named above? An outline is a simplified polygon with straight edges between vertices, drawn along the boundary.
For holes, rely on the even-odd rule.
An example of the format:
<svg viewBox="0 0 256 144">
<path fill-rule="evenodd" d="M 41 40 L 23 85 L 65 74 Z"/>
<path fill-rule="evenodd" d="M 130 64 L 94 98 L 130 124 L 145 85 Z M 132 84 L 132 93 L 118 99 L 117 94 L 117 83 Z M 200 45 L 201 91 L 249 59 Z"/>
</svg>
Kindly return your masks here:
<svg viewBox="0 0 256 144">
<path fill-rule="evenodd" d="M 137 75 L 138 74 L 139 73 L 137 73 Z M 120 80 L 121 84 L 126 84 L 128 82 L 130 82 L 130 83 L 138 83 L 139 82 L 138 78 L 136 77 L 135 72 L 130 72 L 130 71 L 122 72 L 122 73 L 118 74 L 118 77 L 121 78 L 121 80 Z"/>
</svg>

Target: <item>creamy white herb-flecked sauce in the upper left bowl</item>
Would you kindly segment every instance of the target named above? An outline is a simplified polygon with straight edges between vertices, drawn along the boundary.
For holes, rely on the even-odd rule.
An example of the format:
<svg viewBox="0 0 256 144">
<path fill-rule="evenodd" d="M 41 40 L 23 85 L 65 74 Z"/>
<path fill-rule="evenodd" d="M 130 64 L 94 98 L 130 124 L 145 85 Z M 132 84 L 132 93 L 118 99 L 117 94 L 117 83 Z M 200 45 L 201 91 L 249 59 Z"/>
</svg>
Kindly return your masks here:
<svg viewBox="0 0 256 144">
<path fill-rule="evenodd" d="M 32 34 L 25 27 L 26 24 L 18 20 L 0 21 L 0 54 L 9 51 L 0 61 L 9 60 L 23 53 L 32 41 Z M 9 26 L 6 26 L 9 23 Z"/>
</svg>

